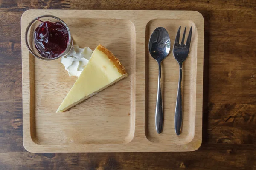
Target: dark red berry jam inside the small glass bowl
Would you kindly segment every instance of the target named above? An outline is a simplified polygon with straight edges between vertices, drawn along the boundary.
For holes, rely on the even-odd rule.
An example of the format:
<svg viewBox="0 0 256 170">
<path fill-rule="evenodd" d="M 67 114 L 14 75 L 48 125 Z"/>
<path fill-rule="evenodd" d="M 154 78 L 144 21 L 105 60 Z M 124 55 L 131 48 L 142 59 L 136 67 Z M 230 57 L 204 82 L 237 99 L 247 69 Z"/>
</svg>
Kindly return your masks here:
<svg viewBox="0 0 256 170">
<path fill-rule="evenodd" d="M 42 22 L 34 33 L 35 48 L 45 58 L 55 58 L 62 54 L 68 45 L 69 34 L 60 22 Z"/>
</svg>

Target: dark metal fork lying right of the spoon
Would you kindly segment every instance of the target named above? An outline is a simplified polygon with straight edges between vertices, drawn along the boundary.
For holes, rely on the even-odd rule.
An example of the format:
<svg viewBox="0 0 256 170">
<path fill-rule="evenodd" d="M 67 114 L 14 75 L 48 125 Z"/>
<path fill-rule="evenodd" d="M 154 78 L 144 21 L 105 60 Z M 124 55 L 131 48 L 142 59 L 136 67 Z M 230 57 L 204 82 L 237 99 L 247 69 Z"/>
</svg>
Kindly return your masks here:
<svg viewBox="0 0 256 170">
<path fill-rule="evenodd" d="M 179 44 L 180 28 L 178 29 L 175 42 L 173 45 L 173 56 L 180 65 L 180 77 L 179 77 L 177 100 L 176 100 L 176 106 L 175 106 L 175 117 L 174 117 L 174 127 L 175 127 L 175 133 L 177 135 L 180 135 L 181 124 L 182 124 L 182 99 L 181 99 L 182 65 L 189 55 L 189 48 L 190 48 L 190 42 L 191 42 L 191 36 L 192 36 L 192 27 L 191 27 L 186 44 L 184 44 L 185 34 L 186 34 L 186 27 L 185 27 L 181 43 Z"/>
</svg>

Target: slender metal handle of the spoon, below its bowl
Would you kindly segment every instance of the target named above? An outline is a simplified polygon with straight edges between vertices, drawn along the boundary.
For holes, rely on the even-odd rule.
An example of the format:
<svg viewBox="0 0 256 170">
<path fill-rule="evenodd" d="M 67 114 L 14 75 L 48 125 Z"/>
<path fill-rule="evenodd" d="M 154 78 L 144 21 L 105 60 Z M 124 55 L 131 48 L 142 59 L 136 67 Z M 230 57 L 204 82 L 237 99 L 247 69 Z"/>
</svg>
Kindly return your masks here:
<svg viewBox="0 0 256 170">
<path fill-rule="evenodd" d="M 156 129 L 157 133 L 161 133 L 163 130 L 163 102 L 162 102 L 162 90 L 161 90 L 161 62 L 158 62 L 159 74 L 158 74 L 158 87 L 157 87 L 157 105 L 156 105 Z"/>
</svg>

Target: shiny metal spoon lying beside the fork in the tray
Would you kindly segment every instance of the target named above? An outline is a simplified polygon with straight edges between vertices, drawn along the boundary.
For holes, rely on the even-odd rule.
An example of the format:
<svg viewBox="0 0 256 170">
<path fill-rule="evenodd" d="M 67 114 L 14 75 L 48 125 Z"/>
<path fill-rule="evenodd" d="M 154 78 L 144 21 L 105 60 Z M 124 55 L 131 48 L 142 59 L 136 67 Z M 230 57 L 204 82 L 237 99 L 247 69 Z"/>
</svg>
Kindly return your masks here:
<svg viewBox="0 0 256 170">
<path fill-rule="evenodd" d="M 163 27 L 156 28 L 151 34 L 148 49 L 151 56 L 157 60 L 158 73 L 158 87 L 157 87 L 157 105 L 156 105 L 156 129 L 157 133 L 163 130 L 163 102 L 161 91 L 161 62 L 165 59 L 171 48 L 171 41 L 168 32 Z"/>
</svg>

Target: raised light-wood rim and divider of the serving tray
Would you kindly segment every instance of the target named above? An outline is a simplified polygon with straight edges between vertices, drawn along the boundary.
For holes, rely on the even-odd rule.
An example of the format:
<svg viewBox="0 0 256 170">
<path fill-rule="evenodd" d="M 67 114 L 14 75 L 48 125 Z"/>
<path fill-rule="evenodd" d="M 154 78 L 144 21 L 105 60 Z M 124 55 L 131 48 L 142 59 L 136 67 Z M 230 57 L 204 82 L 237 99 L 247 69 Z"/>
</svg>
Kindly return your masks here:
<svg viewBox="0 0 256 170">
<path fill-rule="evenodd" d="M 33 18 L 42 14 L 53 14 L 58 17 L 64 16 L 63 13 L 70 14 L 73 18 L 80 13 L 82 18 L 105 18 L 105 19 L 127 19 L 134 23 L 136 30 L 136 75 L 135 79 L 143 79 L 145 77 L 145 57 L 136 57 L 137 55 L 145 56 L 145 26 L 153 19 L 186 19 L 195 23 L 198 31 L 197 44 L 197 71 L 196 71 L 196 114 L 195 114 L 195 134 L 197 139 L 193 138 L 188 144 L 161 144 L 148 141 L 145 136 L 145 94 L 143 96 L 143 88 L 145 92 L 145 80 L 138 84 L 135 80 L 135 132 L 134 139 L 127 144 L 79 144 L 79 145 L 40 145 L 33 141 L 30 129 L 30 65 L 26 63 L 25 56 L 29 54 L 24 42 L 24 29 Z M 108 14 L 108 15 L 106 15 Z M 164 15 L 163 15 L 164 14 Z M 101 17 L 98 17 L 101 15 Z M 139 21 L 143 16 L 143 22 Z M 192 17 L 191 17 L 192 16 Z M 196 17 L 193 18 L 193 17 Z M 76 18 L 76 17 L 74 17 Z M 28 20 L 26 22 L 26 20 Z M 145 24 L 143 28 L 143 24 Z M 137 34 L 143 33 L 143 40 L 138 40 Z M 141 38 L 140 38 L 141 39 Z M 143 44 L 143 45 L 142 45 Z M 203 61 L 204 61 L 204 18 L 197 11 L 143 11 L 143 10 L 37 10 L 32 9 L 25 11 L 21 17 L 21 45 L 22 45 L 22 91 L 23 91 L 23 145 L 29 152 L 169 152 L 169 151 L 194 151 L 201 146 L 202 142 L 202 103 L 203 103 Z M 143 46 L 142 49 L 137 48 L 138 45 Z M 143 65 L 144 64 L 144 65 Z M 200 67 L 198 67 L 200 64 Z M 144 68 L 144 70 L 143 70 Z M 144 76 L 144 77 L 143 77 Z M 143 106 L 143 107 L 137 107 Z M 137 114 L 138 113 L 138 114 Z M 143 141 L 143 144 L 141 144 Z"/>
</svg>

